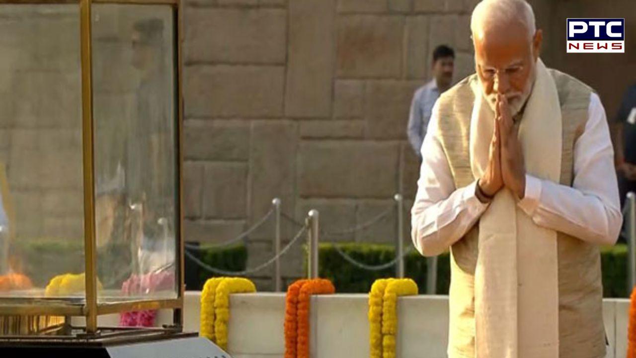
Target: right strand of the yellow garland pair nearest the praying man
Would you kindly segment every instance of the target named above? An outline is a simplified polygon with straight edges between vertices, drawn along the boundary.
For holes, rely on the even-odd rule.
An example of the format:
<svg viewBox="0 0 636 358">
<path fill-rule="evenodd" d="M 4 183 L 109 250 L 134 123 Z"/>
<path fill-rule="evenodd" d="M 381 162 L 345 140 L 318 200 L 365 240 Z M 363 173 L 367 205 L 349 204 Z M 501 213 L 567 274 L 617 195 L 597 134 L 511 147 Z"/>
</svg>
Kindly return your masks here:
<svg viewBox="0 0 636 358">
<path fill-rule="evenodd" d="M 417 283 L 410 278 L 392 280 L 384 290 L 382 303 L 382 357 L 395 358 L 397 334 L 397 297 L 417 295 Z"/>
</svg>

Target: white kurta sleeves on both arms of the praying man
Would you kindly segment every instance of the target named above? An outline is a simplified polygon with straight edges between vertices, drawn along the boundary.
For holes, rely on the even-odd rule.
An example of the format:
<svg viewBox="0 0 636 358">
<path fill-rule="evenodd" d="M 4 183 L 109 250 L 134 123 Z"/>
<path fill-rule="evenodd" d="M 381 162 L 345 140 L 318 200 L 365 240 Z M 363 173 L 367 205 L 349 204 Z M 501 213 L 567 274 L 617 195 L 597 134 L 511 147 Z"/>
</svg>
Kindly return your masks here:
<svg viewBox="0 0 636 358">
<path fill-rule="evenodd" d="M 437 104 L 436 104 L 437 106 Z M 437 131 L 437 108 L 422 144 L 422 167 L 411 210 L 413 243 L 423 255 L 438 255 L 462 238 L 488 204 L 474 195 L 476 182 L 455 188 Z M 526 176 L 525 197 L 518 201 L 538 226 L 569 234 L 590 243 L 616 242 L 622 215 L 614 152 L 605 110 L 597 94 L 590 96 L 589 119 L 574 148 L 572 187 Z"/>
</svg>

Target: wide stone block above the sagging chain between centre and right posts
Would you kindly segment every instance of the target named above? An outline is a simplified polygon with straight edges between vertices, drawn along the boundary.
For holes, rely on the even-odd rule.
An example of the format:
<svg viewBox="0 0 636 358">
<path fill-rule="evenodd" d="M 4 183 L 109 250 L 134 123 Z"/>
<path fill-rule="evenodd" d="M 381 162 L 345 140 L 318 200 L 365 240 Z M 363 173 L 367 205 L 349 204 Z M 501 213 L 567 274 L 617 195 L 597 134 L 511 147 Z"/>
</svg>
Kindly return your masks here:
<svg viewBox="0 0 636 358">
<path fill-rule="evenodd" d="M 312 141 L 300 146 L 301 197 L 391 197 L 397 189 L 396 143 Z"/>
</svg>

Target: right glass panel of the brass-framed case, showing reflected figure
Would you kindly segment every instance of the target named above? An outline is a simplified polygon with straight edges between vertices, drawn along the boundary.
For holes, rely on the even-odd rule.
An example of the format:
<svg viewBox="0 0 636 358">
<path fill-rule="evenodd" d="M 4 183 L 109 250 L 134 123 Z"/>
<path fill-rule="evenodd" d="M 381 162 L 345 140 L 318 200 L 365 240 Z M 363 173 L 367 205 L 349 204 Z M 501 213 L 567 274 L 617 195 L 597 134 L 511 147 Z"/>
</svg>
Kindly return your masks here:
<svg viewBox="0 0 636 358">
<path fill-rule="evenodd" d="M 100 303 L 177 296 L 173 18 L 171 6 L 93 6 Z"/>
</svg>

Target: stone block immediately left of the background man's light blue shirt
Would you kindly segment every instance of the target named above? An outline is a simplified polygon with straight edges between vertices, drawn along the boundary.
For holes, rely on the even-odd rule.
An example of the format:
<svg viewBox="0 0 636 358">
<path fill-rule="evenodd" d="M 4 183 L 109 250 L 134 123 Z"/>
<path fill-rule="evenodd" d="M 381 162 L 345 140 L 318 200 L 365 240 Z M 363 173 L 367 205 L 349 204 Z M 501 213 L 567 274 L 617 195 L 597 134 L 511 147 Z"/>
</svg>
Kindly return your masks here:
<svg viewBox="0 0 636 358">
<path fill-rule="evenodd" d="M 421 83 L 394 80 L 367 83 L 364 117 L 367 121 L 368 138 L 406 138 L 411 101 L 419 85 Z"/>
</svg>

